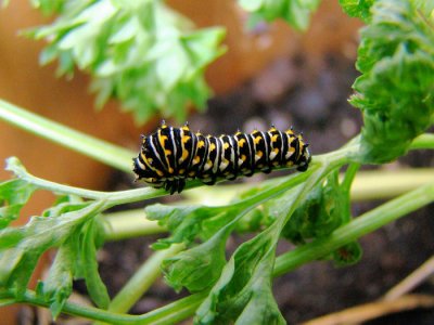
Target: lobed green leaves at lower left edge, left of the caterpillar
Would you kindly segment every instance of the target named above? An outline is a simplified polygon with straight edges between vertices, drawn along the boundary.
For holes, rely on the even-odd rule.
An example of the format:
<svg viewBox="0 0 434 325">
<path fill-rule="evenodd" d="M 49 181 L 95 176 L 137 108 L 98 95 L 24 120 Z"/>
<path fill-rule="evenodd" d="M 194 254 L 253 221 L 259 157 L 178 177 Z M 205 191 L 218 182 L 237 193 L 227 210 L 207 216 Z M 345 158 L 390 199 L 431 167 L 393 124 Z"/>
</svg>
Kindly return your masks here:
<svg viewBox="0 0 434 325">
<path fill-rule="evenodd" d="M 30 176 L 16 158 L 8 160 L 9 170 L 20 179 L 0 184 L 8 202 L 20 207 L 33 192 L 41 190 L 28 179 Z M 11 185 L 12 184 L 12 185 Z M 29 191 L 30 190 L 30 191 Z M 12 288 L 17 299 L 27 288 L 41 255 L 59 248 L 41 292 L 50 302 L 55 317 L 72 294 L 74 278 L 84 278 L 97 306 L 106 308 L 108 295 L 98 273 L 97 245 L 101 244 L 101 224 L 95 216 L 103 202 L 84 202 L 76 196 L 61 196 L 53 207 L 40 217 L 31 217 L 20 227 L 9 226 L 0 232 L 0 287 Z M 11 206 L 10 206 L 11 207 Z M 12 220 L 16 209 L 3 209 L 4 220 Z"/>
</svg>

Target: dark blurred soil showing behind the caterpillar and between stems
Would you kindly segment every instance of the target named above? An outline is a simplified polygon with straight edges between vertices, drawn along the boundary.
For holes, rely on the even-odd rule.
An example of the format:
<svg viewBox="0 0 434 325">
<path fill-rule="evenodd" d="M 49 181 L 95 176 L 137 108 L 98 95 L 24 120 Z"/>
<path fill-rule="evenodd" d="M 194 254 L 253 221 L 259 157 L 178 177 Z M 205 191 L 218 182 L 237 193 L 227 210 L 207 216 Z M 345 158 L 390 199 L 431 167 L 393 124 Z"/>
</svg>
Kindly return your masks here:
<svg viewBox="0 0 434 325">
<path fill-rule="evenodd" d="M 311 152 L 336 150 L 358 133 L 360 112 L 347 103 L 357 72 L 354 62 L 330 55 L 315 67 L 303 58 L 276 61 L 254 80 L 226 95 L 209 101 L 204 115 L 190 118 L 193 129 L 210 134 L 267 129 L 271 123 L 303 131 Z M 399 161 L 413 167 L 432 166 L 433 155 L 411 153 Z M 124 186 L 115 174 L 110 190 Z M 129 180 L 129 178 L 128 178 Z M 128 184 L 130 185 L 130 184 Z M 358 204 L 359 216 L 380 203 Z M 434 251 L 434 206 L 388 224 L 363 238 L 363 257 L 353 266 L 336 269 L 330 262 L 315 262 L 275 281 L 275 295 L 288 323 L 339 311 L 380 298 L 387 289 L 422 264 Z M 101 274 L 111 295 L 115 295 L 151 255 L 155 238 L 135 238 L 107 243 L 102 251 Z M 234 238 L 233 243 L 241 243 Z M 280 249 L 286 250 L 282 244 Z M 432 283 L 418 291 L 433 294 Z M 137 303 L 132 313 L 145 313 L 168 301 L 176 294 L 163 282 L 156 283 Z M 433 310 L 398 313 L 370 324 L 434 324 Z"/>
</svg>

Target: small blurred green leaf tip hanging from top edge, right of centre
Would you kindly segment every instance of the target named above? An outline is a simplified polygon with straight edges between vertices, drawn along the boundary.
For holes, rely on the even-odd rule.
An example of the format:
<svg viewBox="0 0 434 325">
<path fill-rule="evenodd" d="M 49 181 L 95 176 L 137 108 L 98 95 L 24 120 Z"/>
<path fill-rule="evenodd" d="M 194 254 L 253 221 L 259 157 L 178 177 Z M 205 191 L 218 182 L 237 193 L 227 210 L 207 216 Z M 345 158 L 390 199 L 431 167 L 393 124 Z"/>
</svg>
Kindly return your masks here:
<svg viewBox="0 0 434 325">
<path fill-rule="evenodd" d="M 251 13 L 250 25 L 277 18 L 286 21 L 296 29 L 305 30 L 310 14 L 318 8 L 320 0 L 239 0 L 239 4 Z"/>
</svg>

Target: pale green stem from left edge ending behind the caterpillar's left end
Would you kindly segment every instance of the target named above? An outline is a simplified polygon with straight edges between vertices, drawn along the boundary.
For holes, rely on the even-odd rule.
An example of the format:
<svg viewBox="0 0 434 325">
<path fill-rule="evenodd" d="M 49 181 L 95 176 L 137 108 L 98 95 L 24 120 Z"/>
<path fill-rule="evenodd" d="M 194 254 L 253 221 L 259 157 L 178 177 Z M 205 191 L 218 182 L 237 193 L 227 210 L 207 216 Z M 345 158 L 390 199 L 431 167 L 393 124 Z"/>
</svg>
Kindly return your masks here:
<svg viewBox="0 0 434 325">
<path fill-rule="evenodd" d="M 114 168 L 130 172 L 136 155 L 0 100 L 0 119 Z"/>
</svg>

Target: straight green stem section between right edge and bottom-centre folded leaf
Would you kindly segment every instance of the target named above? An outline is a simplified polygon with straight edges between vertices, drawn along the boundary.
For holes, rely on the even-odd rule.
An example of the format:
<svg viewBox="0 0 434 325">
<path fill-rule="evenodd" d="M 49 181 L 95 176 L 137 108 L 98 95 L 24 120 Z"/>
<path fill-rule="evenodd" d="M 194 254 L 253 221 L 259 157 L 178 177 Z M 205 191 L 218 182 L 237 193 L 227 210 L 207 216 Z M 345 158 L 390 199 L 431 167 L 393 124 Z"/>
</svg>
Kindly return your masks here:
<svg viewBox="0 0 434 325">
<path fill-rule="evenodd" d="M 320 259 L 343 245 L 414 211 L 434 200 L 434 184 L 404 194 L 354 219 L 327 238 L 315 239 L 276 259 L 275 276 L 290 272 L 307 262 Z"/>
</svg>

